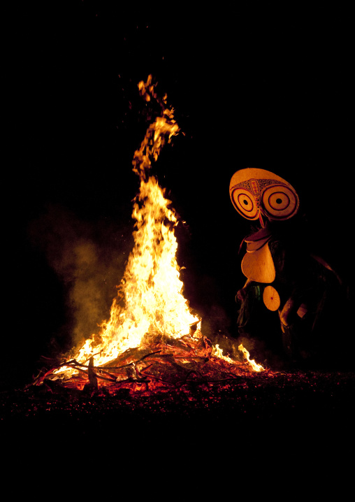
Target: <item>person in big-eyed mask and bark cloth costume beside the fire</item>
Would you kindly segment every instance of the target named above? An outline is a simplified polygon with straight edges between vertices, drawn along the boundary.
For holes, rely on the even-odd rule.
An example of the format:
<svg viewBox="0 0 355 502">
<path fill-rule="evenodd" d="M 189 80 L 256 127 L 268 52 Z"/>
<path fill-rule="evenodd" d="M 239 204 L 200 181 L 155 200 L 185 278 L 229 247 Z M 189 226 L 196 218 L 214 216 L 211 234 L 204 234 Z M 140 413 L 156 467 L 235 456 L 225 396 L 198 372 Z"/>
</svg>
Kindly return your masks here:
<svg viewBox="0 0 355 502">
<path fill-rule="evenodd" d="M 296 190 L 270 171 L 245 168 L 231 178 L 229 193 L 238 213 L 260 224 L 242 241 L 247 281 L 236 296 L 239 333 L 279 344 L 291 359 L 312 357 L 325 343 L 324 314 L 341 281 L 307 250 Z"/>
</svg>

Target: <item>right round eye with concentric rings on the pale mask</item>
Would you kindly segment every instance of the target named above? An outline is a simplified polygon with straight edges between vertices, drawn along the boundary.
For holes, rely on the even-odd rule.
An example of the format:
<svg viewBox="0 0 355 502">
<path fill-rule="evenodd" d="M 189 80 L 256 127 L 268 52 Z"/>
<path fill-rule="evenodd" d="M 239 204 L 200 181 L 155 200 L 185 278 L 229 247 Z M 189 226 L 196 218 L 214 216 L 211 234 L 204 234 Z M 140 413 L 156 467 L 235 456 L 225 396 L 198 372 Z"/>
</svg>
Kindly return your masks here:
<svg viewBox="0 0 355 502">
<path fill-rule="evenodd" d="M 271 220 L 287 220 L 298 210 L 298 196 L 286 185 L 273 185 L 263 191 L 263 209 Z"/>
</svg>

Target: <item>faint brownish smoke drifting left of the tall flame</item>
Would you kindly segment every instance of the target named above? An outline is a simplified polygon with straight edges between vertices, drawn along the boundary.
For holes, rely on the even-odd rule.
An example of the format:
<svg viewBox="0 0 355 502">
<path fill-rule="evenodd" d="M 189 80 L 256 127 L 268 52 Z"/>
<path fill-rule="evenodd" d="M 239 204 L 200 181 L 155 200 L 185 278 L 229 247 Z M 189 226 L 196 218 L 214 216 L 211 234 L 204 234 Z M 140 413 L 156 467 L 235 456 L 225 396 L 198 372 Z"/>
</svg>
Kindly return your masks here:
<svg viewBox="0 0 355 502">
<path fill-rule="evenodd" d="M 67 322 L 60 329 L 75 345 L 98 334 L 110 315 L 133 247 L 132 229 L 132 223 L 108 219 L 83 221 L 61 206 L 49 206 L 29 225 L 31 243 L 64 285 Z"/>
</svg>

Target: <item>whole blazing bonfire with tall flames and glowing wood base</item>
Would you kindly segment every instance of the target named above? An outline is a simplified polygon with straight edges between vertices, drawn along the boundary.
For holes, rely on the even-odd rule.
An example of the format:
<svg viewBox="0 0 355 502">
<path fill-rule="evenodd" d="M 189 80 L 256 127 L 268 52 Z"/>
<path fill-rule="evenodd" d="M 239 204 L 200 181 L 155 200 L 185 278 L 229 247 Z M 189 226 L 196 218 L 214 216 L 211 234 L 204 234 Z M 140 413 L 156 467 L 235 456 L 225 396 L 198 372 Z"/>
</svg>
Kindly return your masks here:
<svg viewBox="0 0 355 502">
<path fill-rule="evenodd" d="M 140 182 L 132 213 L 134 246 L 110 318 L 76 352 L 41 370 L 34 385 L 57 380 L 78 389 L 105 386 L 138 391 L 192 382 L 214 384 L 264 371 L 242 345 L 232 357 L 203 336 L 201 317 L 184 298 L 176 259 L 178 215 L 150 175 L 152 162 L 180 128 L 167 96 L 159 99 L 155 87 L 152 76 L 138 84 L 143 99 L 157 101 L 161 113 L 147 127 L 133 157 L 133 171 Z"/>
</svg>

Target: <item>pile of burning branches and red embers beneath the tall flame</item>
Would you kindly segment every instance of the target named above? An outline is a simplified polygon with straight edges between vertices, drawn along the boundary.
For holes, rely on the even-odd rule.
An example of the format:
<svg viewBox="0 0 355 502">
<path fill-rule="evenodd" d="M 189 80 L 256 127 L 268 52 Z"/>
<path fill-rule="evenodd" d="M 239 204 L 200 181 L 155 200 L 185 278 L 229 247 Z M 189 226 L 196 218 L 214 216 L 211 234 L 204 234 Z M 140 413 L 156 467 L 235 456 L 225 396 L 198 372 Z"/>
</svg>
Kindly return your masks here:
<svg viewBox="0 0 355 502">
<path fill-rule="evenodd" d="M 115 361 L 95 366 L 94 356 L 85 364 L 75 359 L 43 368 L 34 385 L 63 385 L 68 389 L 106 392 L 129 389 L 130 392 L 153 392 L 192 385 L 222 385 L 250 375 L 246 360 L 223 359 L 213 352 L 208 338 L 163 338 L 147 336 L 140 347 L 126 350 Z M 240 358 L 239 358 L 240 359 Z M 73 368 L 75 375 L 55 373 L 60 368 Z M 271 373 L 268 371 L 268 373 Z"/>
</svg>

